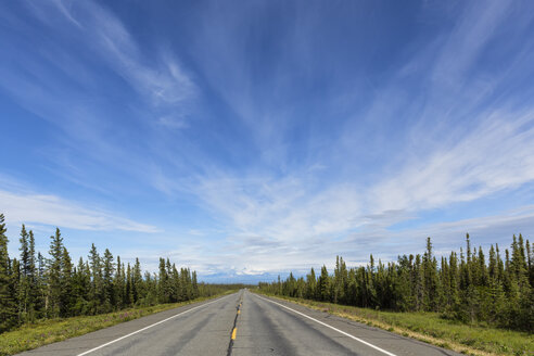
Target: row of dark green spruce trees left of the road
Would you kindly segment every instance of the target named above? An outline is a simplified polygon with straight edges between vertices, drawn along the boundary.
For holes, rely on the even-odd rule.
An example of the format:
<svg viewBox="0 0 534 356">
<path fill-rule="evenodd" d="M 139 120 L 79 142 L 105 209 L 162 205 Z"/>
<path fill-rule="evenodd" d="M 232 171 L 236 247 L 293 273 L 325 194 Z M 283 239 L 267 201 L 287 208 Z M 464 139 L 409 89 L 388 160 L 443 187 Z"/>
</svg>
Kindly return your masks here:
<svg viewBox="0 0 534 356">
<path fill-rule="evenodd" d="M 0 214 L 0 332 L 37 319 L 110 313 L 132 306 L 175 303 L 209 296 L 232 285 L 199 283 L 196 272 L 160 258 L 157 274 L 142 271 L 91 245 L 75 265 L 56 228 L 48 256 L 35 251 L 35 237 L 23 225 L 20 259 L 8 254 L 4 216 Z"/>
</svg>

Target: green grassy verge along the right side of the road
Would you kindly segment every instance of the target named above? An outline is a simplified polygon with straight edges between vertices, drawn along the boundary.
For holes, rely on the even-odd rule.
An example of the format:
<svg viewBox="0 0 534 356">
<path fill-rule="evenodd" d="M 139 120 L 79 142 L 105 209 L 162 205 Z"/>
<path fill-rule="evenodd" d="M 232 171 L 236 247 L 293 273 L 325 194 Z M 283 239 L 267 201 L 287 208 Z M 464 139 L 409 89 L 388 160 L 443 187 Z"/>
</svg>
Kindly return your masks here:
<svg viewBox="0 0 534 356">
<path fill-rule="evenodd" d="M 252 290 L 252 292 L 258 291 Z M 534 355 L 534 335 L 525 332 L 462 325 L 442 319 L 437 313 L 381 312 L 287 296 L 266 295 L 316 310 L 327 312 L 467 355 Z"/>
</svg>

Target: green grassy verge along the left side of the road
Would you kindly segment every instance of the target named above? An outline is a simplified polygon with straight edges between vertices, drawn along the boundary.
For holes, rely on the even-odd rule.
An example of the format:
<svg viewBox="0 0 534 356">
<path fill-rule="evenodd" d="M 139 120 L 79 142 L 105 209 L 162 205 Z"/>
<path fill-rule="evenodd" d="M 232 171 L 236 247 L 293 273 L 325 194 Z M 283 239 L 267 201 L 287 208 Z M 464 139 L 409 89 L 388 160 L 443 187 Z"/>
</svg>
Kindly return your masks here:
<svg viewBox="0 0 534 356">
<path fill-rule="evenodd" d="M 0 334 L 0 356 L 14 355 L 65 339 L 79 336 L 99 329 L 109 328 L 119 322 L 138 319 L 158 312 L 215 298 L 236 291 L 226 291 L 225 293 L 213 295 L 211 297 L 199 297 L 181 303 L 158 304 L 94 316 L 39 320 L 35 323 L 27 323 L 16 330 Z"/>
</svg>

